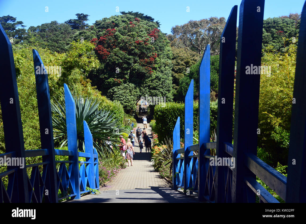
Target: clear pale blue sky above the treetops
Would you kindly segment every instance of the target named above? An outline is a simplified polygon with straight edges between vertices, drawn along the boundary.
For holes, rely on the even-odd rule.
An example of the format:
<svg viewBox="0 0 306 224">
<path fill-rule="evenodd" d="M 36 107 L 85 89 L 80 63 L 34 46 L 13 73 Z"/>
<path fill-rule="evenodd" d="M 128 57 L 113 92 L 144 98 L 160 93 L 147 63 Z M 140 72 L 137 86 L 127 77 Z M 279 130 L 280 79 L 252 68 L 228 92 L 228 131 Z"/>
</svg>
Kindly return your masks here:
<svg viewBox="0 0 306 224">
<path fill-rule="evenodd" d="M 266 0 L 264 19 L 301 13 L 304 2 L 304 0 Z M 75 19 L 76 13 L 84 13 L 90 15 L 88 18 L 91 25 L 104 17 L 120 15 L 121 13 L 116 12 L 118 6 L 119 12 L 138 11 L 153 17 L 155 21 L 159 20 L 161 31 L 170 34 L 171 27 L 182 25 L 189 20 L 200 20 L 211 16 L 223 16 L 227 19 L 234 5 L 238 5 L 239 13 L 240 3 L 241 0 L 0 0 L 0 16 L 17 17 L 17 20 L 23 21 L 27 26 L 25 28 L 28 28 L 54 20 L 63 23 L 65 20 Z M 46 6 L 49 12 L 45 12 Z M 190 12 L 186 12 L 187 6 Z"/>
</svg>

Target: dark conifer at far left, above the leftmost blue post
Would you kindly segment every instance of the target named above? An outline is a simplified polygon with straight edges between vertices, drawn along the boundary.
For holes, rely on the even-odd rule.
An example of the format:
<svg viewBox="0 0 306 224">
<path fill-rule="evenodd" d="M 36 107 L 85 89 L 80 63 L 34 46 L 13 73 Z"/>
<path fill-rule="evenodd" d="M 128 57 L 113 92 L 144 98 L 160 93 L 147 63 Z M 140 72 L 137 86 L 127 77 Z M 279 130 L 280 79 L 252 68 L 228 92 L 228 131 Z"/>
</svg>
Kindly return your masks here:
<svg viewBox="0 0 306 224">
<path fill-rule="evenodd" d="M 18 28 L 18 27 L 25 27 L 23 25 L 23 22 L 16 21 L 16 20 L 17 20 L 16 17 L 10 16 L 10 15 L 0 17 L 0 23 L 4 31 L 6 32 L 7 36 L 9 38 L 13 37 L 17 39 L 17 41 L 14 41 L 14 43 L 20 42 L 21 40 L 23 40 L 24 35 L 26 35 L 26 30 L 24 28 Z"/>
</svg>

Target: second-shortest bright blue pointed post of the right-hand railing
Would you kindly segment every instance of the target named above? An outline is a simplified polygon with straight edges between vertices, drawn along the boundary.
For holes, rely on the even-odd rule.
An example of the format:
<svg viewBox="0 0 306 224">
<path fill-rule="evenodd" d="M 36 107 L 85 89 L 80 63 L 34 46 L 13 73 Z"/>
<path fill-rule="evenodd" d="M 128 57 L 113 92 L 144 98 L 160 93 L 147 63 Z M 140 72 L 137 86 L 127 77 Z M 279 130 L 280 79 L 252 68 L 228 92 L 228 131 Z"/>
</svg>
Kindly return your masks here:
<svg viewBox="0 0 306 224">
<path fill-rule="evenodd" d="M 184 129 L 185 129 L 184 130 L 185 132 L 184 189 L 187 190 L 188 188 L 192 187 L 192 182 L 191 182 L 192 158 L 188 158 L 188 156 L 191 156 L 193 152 L 188 152 L 187 147 L 193 145 L 193 79 L 190 82 L 188 91 L 185 96 Z"/>
</svg>

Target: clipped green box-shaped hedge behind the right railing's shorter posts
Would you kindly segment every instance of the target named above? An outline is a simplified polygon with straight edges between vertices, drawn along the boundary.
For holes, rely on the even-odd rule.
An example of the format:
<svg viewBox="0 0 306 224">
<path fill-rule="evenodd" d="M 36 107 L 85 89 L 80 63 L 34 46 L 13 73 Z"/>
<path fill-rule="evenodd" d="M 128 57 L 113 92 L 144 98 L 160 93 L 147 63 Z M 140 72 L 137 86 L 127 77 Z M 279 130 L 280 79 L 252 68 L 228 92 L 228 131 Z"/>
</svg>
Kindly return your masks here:
<svg viewBox="0 0 306 224">
<path fill-rule="evenodd" d="M 210 131 L 216 129 L 217 132 L 217 113 L 218 113 L 218 101 L 210 103 Z M 180 117 L 180 134 L 181 138 L 184 138 L 184 103 L 166 103 L 164 107 L 162 105 L 156 105 L 154 110 L 155 127 L 154 130 L 158 135 L 159 141 L 168 136 L 173 137 L 173 129 L 177 121 L 177 117 Z M 198 130 L 198 101 L 193 102 L 193 130 Z"/>
</svg>

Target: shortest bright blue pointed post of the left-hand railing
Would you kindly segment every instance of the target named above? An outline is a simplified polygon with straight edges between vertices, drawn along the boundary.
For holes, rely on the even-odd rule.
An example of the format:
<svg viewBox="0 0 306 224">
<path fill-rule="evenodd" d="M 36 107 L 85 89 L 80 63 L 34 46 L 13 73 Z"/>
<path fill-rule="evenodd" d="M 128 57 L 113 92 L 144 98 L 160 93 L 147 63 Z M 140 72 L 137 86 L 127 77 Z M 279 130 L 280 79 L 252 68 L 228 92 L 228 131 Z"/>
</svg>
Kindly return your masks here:
<svg viewBox="0 0 306 224">
<path fill-rule="evenodd" d="M 89 130 L 89 127 L 86 121 L 83 121 L 83 124 L 84 124 L 85 152 L 90 153 L 90 158 L 86 159 L 86 161 L 90 162 L 90 164 L 87 165 L 89 166 L 89 169 L 88 169 L 89 184 L 90 184 L 90 188 L 94 189 L 95 188 L 94 150 L 93 150 L 94 146 L 93 146 L 93 141 L 92 141 L 92 135 L 91 135 L 91 132 Z"/>
</svg>

